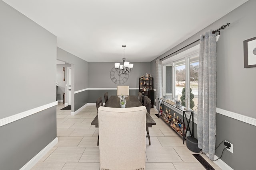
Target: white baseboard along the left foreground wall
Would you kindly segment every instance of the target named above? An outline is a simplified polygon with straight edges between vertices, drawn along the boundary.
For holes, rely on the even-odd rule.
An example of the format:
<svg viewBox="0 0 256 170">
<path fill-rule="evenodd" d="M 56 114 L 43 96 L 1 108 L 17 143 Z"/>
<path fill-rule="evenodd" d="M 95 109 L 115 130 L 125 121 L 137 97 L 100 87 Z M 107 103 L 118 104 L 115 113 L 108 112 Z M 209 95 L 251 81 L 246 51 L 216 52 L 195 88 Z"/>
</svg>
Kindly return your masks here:
<svg viewBox="0 0 256 170">
<path fill-rule="evenodd" d="M 56 137 L 51 143 L 49 143 L 44 149 L 42 149 L 36 156 L 34 156 L 28 163 L 26 163 L 20 170 L 30 170 L 42 157 L 48 153 L 56 144 L 58 138 Z"/>
</svg>

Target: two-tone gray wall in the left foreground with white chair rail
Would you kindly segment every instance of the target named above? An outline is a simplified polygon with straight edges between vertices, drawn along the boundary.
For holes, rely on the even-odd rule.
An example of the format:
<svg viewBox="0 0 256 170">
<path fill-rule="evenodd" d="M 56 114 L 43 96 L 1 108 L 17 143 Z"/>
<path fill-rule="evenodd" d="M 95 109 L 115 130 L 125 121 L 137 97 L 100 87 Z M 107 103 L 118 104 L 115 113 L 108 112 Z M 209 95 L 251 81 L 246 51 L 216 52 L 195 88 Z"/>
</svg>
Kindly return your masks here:
<svg viewBox="0 0 256 170">
<path fill-rule="evenodd" d="M 56 37 L 0 1 L 0 119 L 56 101 Z M 56 106 L 0 127 L 0 169 L 20 169 L 56 138 Z"/>
</svg>

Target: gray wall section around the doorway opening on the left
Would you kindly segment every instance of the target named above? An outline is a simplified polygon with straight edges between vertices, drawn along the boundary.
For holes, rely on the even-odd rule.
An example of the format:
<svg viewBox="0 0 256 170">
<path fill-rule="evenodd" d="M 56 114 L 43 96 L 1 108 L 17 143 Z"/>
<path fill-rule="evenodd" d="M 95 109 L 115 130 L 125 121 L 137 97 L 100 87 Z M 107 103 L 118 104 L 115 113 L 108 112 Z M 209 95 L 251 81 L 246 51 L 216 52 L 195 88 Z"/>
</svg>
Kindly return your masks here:
<svg viewBox="0 0 256 170">
<path fill-rule="evenodd" d="M 88 62 L 57 47 L 57 59 L 71 64 L 72 68 L 72 110 L 76 111 L 88 101 L 87 95 L 74 94 L 75 91 L 88 88 Z"/>
</svg>

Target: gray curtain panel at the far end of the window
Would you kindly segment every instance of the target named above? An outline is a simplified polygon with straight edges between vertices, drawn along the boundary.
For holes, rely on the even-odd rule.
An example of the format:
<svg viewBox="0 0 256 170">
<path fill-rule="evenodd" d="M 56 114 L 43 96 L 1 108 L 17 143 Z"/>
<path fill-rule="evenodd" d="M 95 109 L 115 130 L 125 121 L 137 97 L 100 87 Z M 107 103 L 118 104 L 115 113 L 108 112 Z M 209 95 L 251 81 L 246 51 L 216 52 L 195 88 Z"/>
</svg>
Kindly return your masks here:
<svg viewBox="0 0 256 170">
<path fill-rule="evenodd" d="M 162 61 L 156 59 L 156 107 L 158 107 L 158 99 L 162 98 L 162 87 L 163 87 L 163 66 Z M 158 107 L 160 108 L 160 106 Z"/>
</svg>

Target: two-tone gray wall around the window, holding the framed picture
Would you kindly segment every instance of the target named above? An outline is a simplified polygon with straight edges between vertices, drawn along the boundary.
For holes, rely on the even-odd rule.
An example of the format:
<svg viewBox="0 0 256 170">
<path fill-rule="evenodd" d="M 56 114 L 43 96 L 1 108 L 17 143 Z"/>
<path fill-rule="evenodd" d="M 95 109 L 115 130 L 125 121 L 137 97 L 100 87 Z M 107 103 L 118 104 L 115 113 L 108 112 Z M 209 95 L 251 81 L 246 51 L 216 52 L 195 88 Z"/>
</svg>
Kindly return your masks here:
<svg viewBox="0 0 256 170">
<path fill-rule="evenodd" d="M 252 118 L 256 118 L 254 109 L 256 67 L 244 68 L 243 41 L 256 37 L 255 7 L 256 1 L 249 0 L 158 57 L 163 58 L 196 41 L 205 31 L 218 29 L 221 25 L 230 22 L 230 26 L 221 31 L 217 43 L 217 107 Z M 155 60 L 151 62 L 151 65 L 154 64 Z M 151 70 L 155 72 L 155 66 Z M 255 169 L 256 127 L 219 113 L 217 113 L 216 123 L 216 146 L 223 140 L 234 145 L 234 153 L 225 150 L 221 159 L 235 170 Z M 216 150 L 218 157 L 222 149 L 224 149 L 223 144 Z"/>
</svg>

